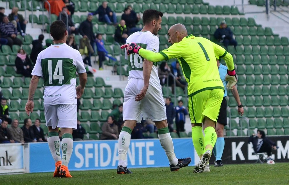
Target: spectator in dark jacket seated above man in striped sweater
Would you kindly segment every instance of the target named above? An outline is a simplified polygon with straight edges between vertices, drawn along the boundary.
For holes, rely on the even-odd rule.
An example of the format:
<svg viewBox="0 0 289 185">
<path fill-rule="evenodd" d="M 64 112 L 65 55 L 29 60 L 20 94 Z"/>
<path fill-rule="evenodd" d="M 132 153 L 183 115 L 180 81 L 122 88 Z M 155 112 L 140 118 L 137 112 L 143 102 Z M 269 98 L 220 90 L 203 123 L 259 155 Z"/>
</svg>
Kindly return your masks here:
<svg viewBox="0 0 289 185">
<path fill-rule="evenodd" d="M 17 28 L 18 32 L 24 36 L 26 32 L 26 24 L 28 21 L 26 21 L 23 18 L 23 15 L 18 14 L 18 8 L 13 7 L 11 14 L 8 15 L 9 21 L 14 24 L 14 26 Z"/>
</svg>

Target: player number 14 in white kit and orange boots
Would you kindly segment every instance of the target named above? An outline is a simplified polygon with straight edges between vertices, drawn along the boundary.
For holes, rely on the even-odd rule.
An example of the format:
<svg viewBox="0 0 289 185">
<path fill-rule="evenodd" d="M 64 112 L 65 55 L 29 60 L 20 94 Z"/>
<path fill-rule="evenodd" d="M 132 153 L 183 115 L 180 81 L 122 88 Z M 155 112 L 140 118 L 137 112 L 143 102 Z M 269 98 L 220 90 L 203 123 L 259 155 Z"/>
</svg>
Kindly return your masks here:
<svg viewBox="0 0 289 185">
<path fill-rule="evenodd" d="M 53 176 L 72 177 L 67 166 L 73 150 L 72 131 L 77 129 L 76 99 L 84 93 L 87 75 L 79 51 L 66 45 L 68 32 L 64 22 L 54 21 L 50 26 L 50 34 L 54 44 L 41 51 L 37 57 L 25 110 L 28 116 L 33 112 L 34 93 L 39 78 L 43 77 L 44 114 L 49 130 L 47 142 L 55 160 Z M 80 85 L 75 88 L 76 72 Z M 58 127 L 62 133 L 61 144 Z"/>
</svg>

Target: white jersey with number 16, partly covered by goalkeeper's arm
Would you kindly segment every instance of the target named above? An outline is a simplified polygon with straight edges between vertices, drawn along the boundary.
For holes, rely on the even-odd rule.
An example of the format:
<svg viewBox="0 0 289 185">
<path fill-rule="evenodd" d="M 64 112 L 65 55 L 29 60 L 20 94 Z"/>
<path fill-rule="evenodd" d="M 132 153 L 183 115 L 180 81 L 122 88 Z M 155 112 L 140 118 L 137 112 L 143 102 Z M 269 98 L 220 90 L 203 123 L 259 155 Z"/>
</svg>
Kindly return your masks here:
<svg viewBox="0 0 289 185">
<path fill-rule="evenodd" d="M 130 42 L 134 42 L 144 49 L 154 51 L 156 53 L 159 52 L 160 46 L 159 38 L 149 31 L 135 32 L 131 34 L 126 40 L 126 43 Z M 130 69 L 128 80 L 130 78 L 144 79 L 143 77 L 144 58 L 139 56 L 138 54 L 131 54 L 127 56 L 127 52 L 125 51 L 125 59 L 128 59 L 128 65 Z M 153 68 L 151 70 L 149 84 L 153 86 L 155 89 L 158 89 L 159 92 L 162 92 L 160 86 L 160 79 L 158 77 L 158 68 L 155 62 L 153 62 Z"/>
</svg>

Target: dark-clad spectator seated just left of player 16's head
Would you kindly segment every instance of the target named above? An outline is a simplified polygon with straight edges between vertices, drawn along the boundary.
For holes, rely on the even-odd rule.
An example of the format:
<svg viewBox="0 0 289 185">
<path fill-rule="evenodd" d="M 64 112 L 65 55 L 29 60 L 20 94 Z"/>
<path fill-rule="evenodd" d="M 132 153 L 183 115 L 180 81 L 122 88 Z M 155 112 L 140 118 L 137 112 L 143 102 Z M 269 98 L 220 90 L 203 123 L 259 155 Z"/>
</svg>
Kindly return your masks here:
<svg viewBox="0 0 289 185">
<path fill-rule="evenodd" d="M 130 34 L 142 30 L 142 28 L 136 27 L 136 24 L 140 20 L 140 16 L 136 15 L 136 12 L 131 10 L 131 7 L 128 6 L 127 8 L 125 8 L 121 19 L 125 21 L 125 25 L 127 25 L 127 27 L 129 28 Z"/>
</svg>

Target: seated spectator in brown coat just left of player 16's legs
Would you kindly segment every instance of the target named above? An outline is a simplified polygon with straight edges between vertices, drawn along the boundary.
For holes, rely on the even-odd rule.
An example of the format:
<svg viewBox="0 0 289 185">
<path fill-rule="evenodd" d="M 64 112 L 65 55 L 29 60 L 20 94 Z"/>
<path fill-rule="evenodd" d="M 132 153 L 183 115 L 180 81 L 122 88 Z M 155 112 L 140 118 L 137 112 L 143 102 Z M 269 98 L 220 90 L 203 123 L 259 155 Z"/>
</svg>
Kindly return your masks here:
<svg viewBox="0 0 289 185">
<path fill-rule="evenodd" d="M 102 134 L 100 136 L 101 140 L 105 139 L 118 139 L 118 127 L 114 124 L 114 116 L 108 116 L 107 122 L 102 125 Z"/>
</svg>

